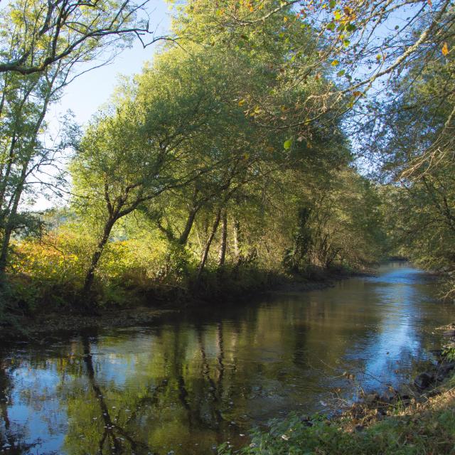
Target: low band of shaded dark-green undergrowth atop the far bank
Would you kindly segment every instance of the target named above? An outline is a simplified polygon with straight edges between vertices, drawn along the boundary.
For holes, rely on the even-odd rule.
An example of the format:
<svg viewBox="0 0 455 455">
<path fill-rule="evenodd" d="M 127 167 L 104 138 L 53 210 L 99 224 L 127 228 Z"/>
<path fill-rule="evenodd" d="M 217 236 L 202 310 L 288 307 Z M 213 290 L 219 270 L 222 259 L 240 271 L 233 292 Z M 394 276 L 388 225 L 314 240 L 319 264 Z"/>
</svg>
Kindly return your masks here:
<svg viewBox="0 0 455 455">
<path fill-rule="evenodd" d="M 63 271 L 59 274 L 58 269 L 46 274 L 41 268 L 35 274 L 12 274 L 2 291 L 0 309 L 3 310 L 3 322 L 9 325 L 14 316 L 55 311 L 90 314 L 90 309 L 135 306 L 175 309 L 201 304 L 220 306 L 223 302 L 242 301 L 287 284 L 303 287 L 317 286 L 318 283 L 325 285 L 333 279 L 348 277 L 359 271 L 350 267 L 309 267 L 305 272 L 293 273 L 245 264 L 241 267 L 228 265 L 222 269 L 208 267 L 200 277 L 195 267 L 188 267 L 183 277 L 157 279 L 147 277 L 144 270 L 127 269 L 117 275 L 97 279 L 87 301 L 87 296 L 82 294 L 81 275 L 73 272 L 65 274 Z"/>
</svg>

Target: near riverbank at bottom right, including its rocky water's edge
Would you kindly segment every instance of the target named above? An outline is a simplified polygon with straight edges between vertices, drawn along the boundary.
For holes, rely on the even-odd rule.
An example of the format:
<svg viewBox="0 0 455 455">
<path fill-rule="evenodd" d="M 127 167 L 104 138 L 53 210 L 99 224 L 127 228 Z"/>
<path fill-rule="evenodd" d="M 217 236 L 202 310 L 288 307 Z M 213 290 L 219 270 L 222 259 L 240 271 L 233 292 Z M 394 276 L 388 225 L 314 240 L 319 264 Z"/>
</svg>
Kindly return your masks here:
<svg viewBox="0 0 455 455">
<path fill-rule="evenodd" d="M 454 324 L 440 327 L 454 332 Z M 447 330 L 449 329 L 449 330 Z M 451 343 L 454 343 L 452 334 Z M 291 414 L 256 429 L 252 441 L 218 455 L 419 455 L 455 454 L 455 363 L 453 350 L 441 349 L 437 365 L 400 391 L 370 392 L 335 416 Z"/>
</svg>

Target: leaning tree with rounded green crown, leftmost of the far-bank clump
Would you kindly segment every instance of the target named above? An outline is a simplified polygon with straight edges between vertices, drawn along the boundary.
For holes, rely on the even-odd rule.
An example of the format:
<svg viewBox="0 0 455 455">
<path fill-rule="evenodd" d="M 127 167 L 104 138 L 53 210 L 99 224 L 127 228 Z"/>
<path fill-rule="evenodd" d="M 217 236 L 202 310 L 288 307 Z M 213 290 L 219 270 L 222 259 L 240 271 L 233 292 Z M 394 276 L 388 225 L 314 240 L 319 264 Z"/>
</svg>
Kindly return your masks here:
<svg viewBox="0 0 455 455">
<path fill-rule="evenodd" d="M 200 59 L 164 55 L 137 78 L 112 112 L 87 130 L 73 162 L 76 202 L 92 208 L 100 222 L 100 237 L 85 278 L 92 287 L 95 269 L 114 224 L 140 205 L 181 188 L 215 167 L 223 156 L 204 161 L 196 150 L 218 128 L 223 85 Z M 205 75 L 206 77 L 203 77 Z"/>
</svg>

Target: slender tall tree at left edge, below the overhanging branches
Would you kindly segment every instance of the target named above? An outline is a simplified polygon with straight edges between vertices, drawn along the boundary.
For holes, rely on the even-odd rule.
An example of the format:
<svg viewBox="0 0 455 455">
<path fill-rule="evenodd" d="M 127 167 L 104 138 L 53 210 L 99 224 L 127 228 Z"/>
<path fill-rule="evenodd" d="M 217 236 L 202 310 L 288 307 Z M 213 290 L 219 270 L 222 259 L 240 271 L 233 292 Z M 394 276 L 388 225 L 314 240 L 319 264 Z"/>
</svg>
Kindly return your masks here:
<svg viewBox="0 0 455 455">
<path fill-rule="evenodd" d="M 66 75 L 62 80 L 62 71 L 55 68 L 42 76 L 7 76 L 10 83 L 3 95 L 6 120 L 1 123 L 0 151 L 0 281 L 11 235 L 33 224 L 30 217 L 18 213 L 19 203 L 33 172 L 53 161 L 55 151 L 46 148 L 39 137 L 45 128 L 48 105 L 65 85 Z"/>
</svg>

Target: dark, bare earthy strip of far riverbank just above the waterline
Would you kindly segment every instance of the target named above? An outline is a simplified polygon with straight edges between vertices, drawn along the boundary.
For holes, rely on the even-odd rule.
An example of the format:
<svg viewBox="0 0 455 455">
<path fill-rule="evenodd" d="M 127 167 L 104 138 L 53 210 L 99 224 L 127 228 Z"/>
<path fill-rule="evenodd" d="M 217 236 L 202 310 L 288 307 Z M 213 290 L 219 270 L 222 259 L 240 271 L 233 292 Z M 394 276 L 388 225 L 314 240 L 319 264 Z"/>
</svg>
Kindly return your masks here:
<svg viewBox="0 0 455 455">
<path fill-rule="evenodd" d="M 129 289 L 121 301 L 93 304 L 92 311 L 81 311 L 77 304 L 43 301 L 33 306 L 16 305 L 0 321 L 0 341 L 33 339 L 45 341 L 55 334 L 76 335 L 89 329 L 151 326 L 178 317 L 183 311 L 205 311 L 214 306 L 244 305 L 265 294 L 302 292 L 331 287 L 342 279 L 366 275 L 345 269 L 331 269 L 309 277 L 255 273 L 256 279 L 210 277 L 197 289 L 156 286 Z M 125 289 L 123 289 L 125 292 Z M 140 298 L 138 297 L 140 294 Z M 129 296 L 129 299 L 128 299 Z"/>
</svg>

